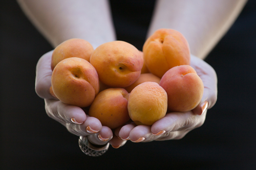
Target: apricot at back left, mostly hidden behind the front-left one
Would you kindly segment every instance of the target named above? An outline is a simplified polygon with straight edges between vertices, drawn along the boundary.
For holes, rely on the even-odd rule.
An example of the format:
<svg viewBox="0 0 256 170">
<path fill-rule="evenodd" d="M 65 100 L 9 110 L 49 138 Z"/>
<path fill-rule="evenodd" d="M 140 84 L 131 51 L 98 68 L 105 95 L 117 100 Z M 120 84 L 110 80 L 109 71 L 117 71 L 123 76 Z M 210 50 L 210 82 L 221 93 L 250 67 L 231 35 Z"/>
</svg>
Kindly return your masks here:
<svg viewBox="0 0 256 170">
<path fill-rule="evenodd" d="M 86 40 L 79 38 L 66 40 L 54 48 L 51 68 L 53 70 L 61 60 L 71 57 L 78 57 L 90 61 L 93 51 L 93 46 Z"/>
</svg>

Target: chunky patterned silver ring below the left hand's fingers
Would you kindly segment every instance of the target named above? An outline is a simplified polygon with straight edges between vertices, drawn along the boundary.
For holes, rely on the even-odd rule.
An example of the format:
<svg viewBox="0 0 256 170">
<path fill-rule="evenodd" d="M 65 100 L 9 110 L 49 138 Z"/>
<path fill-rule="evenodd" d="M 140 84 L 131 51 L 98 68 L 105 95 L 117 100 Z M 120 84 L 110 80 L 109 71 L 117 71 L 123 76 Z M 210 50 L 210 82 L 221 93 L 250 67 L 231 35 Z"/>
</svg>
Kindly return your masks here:
<svg viewBox="0 0 256 170">
<path fill-rule="evenodd" d="M 89 156 L 101 156 L 109 149 L 110 143 L 106 143 L 104 145 L 96 145 L 91 143 L 86 136 L 80 136 L 79 140 L 79 147 L 81 151 Z"/>
</svg>

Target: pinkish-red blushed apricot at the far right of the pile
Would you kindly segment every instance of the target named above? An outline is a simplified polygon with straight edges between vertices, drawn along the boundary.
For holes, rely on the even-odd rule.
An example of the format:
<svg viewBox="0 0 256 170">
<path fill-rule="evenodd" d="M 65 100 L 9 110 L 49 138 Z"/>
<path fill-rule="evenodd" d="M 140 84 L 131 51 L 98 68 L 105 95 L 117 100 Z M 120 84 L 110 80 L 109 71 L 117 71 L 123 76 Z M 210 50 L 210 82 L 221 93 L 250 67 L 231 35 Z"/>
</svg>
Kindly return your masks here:
<svg viewBox="0 0 256 170">
<path fill-rule="evenodd" d="M 194 109 L 204 92 L 203 81 L 189 65 L 169 69 L 159 85 L 167 92 L 169 111 L 185 112 Z"/>
</svg>

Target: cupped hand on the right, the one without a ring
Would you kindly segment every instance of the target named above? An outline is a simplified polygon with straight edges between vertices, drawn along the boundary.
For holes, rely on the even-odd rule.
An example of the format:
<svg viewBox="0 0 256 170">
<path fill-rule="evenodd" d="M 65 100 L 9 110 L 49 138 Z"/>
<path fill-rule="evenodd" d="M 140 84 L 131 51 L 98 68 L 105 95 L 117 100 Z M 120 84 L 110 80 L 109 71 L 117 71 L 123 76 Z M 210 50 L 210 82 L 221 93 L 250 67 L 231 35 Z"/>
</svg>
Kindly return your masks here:
<svg viewBox="0 0 256 170">
<path fill-rule="evenodd" d="M 127 124 L 115 130 L 115 135 L 123 140 L 148 142 L 152 140 L 181 139 L 191 130 L 203 125 L 207 109 L 217 101 L 217 75 L 205 61 L 191 55 L 190 65 L 197 71 L 204 83 L 204 93 L 200 104 L 187 112 L 170 112 L 152 126 Z"/>
</svg>

